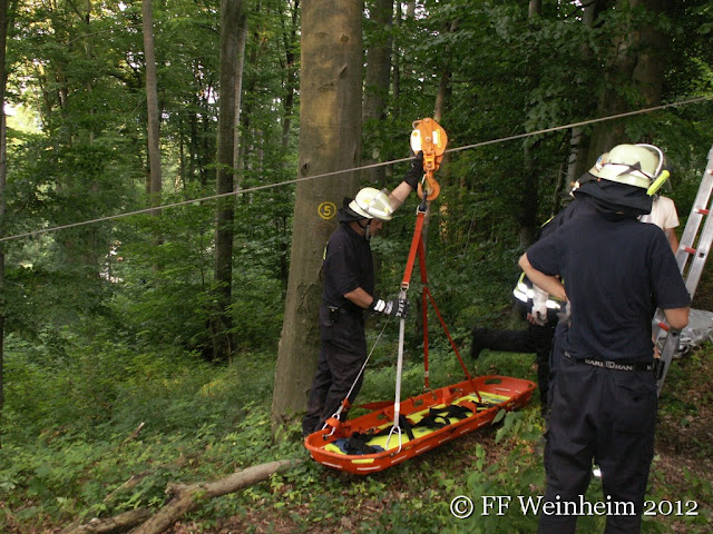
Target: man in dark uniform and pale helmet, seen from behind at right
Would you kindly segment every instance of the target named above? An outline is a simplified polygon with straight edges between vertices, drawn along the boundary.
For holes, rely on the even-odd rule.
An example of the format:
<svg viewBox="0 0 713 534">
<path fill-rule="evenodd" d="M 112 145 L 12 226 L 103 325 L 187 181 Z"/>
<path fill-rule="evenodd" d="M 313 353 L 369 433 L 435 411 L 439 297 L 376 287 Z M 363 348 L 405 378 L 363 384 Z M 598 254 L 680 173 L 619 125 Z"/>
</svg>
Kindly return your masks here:
<svg viewBox="0 0 713 534">
<path fill-rule="evenodd" d="M 577 512 L 587 513 L 594 458 L 602 469 L 605 532 L 641 531 L 657 408 L 651 298 L 674 328 L 686 326 L 691 304 L 664 233 L 636 220 L 651 210 L 651 195 L 667 175 L 664 165 L 654 146 L 614 147 L 598 176 L 575 191 L 596 212 L 573 219 L 520 258 L 533 283 L 568 309 L 553 349 L 548 512 L 540 514 L 540 533 L 575 532 Z"/>
</svg>

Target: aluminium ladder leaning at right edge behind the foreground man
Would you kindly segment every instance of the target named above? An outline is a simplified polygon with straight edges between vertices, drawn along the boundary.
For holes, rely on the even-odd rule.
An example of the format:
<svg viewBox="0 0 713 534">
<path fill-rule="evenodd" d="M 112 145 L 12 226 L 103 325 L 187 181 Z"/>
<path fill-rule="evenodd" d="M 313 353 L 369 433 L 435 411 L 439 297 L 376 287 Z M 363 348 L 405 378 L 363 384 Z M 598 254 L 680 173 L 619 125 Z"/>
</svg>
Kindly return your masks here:
<svg viewBox="0 0 713 534">
<path fill-rule="evenodd" d="M 699 192 L 691 208 L 691 215 L 681 236 L 676 263 L 685 280 L 686 289 L 693 299 L 695 288 L 701 279 L 703 267 L 713 240 L 713 217 L 711 217 L 711 191 L 713 190 L 713 147 L 709 151 L 709 162 L 703 171 Z M 699 231 L 700 230 L 700 231 Z M 653 320 L 654 339 L 663 339 L 661 356 L 655 363 L 656 389 L 661 395 L 673 355 L 678 349 L 681 330 L 671 328 L 664 318 L 663 310 L 657 309 Z M 665 337 L 664 337 L 665 336 Z"/>
</svg>

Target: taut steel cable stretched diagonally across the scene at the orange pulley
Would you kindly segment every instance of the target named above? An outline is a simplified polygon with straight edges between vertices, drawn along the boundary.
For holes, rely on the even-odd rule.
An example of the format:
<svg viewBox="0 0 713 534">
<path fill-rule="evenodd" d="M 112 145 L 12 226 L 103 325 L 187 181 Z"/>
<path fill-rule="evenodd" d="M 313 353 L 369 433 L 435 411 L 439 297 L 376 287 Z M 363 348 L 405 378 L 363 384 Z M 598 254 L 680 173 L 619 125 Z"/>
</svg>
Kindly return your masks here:
<svg viewBox="0 0 713 534">
<path fill-rule="evenodd" d="M 485 147 L 485 146 L 488 146 L 488 145 L 496 145 L 498 142 L 512 141 L 512 140 L 516 140 L 516 139 L 524 139 L 526 137 L 539 136 L 539 135 L 543 135 L 543 134 L 550 134 L 553 131 L 566 130 L 568 128 L 575 128 L 575 127 L 578 127 L 578 126 L 593 125 L 593 123 L 596 123 L 596 122 L 604 122 L 606 120 L 621 119 L 621 118 L 631 117 L 631 116 L 634 116 L 634 115 L 649 113 L 649 112 L 653 112 L 653 111 L 660 111 L 662 109 L 673 108 L 673 107 L 676 107 L 676 106 L 686 106 L 686 105 L 690 105 L 690 103 L 696 103 L 696 102 L 701 102 L 703 100 L 710 100 L 710 99 L 713 99 L 713 95 L 706 95 L 706 96 L 703 96 L 703 97 L 692 98 L 692 99 L 688 99 L 688 100 L 682 100 L 682 101 L 678 101 L 678 102 L 672 102 L 672 103 L 666 103 L 666 105 L 662 105 L 662 106 L 655 106 L 653 108 L 638 109 L 636 111 L 627 111 L 627 112 L 624 112 L 624 113 L 612 115 L 612 116 L 608 116 L 608 117 L 600 117 L 598 119 L 589 119 L 589 120 L 583 120 L 580 122 L 572 122 L 569 125 L 556 126 L 556 127 L 553 127 L 553 128 L 545 128 L 543 130 L 530 131 L 530 132 L 526 132 L 526 134 L 517 134 L 515 136 L 509 136 L 509 137 L 501 137 L 501 138 L 498 138 L 498 139 L 491 139 L 489 141 L 481 141 L 481 142 L 476 142 L 473 145 L 466 145 L 466 146 L 462 146 L 462 147 L 450 148 L 450 149 L 447 149 L 446 152 L 459 152 L 461 150 L 469 150 L 469 149 L 472 149 L 472 148 Z M 318 179 L 318 178 L 326 178 L 326 177 L 330 177 L 330 176 L 343 175 L 345 172 L 353 172 L 353 171 L 358 171 L 358 170 L 365 170 L 365 169 L 374 169 L 374 168 L 378 168 L 378 167 L 385 167 L 387 165 L 399 164 L 399 162 L 402 162 L 402 161 L 410 161 L 411 159 L 412 158 L 392 159 L 390 161 L 382 161 L 382 162 L 379 162 L 379 164 L 364 165 L 362 167 L 352 167 L 352 168 L 349 168 L 349 169 L 333 170 L 333 171 L 330 171 L 330 172 L 322 172 L 320 175 L 305 176 L 305 177 L 295 178 L 295 179 L 292 179 L 292 180 L 279 181 L 276 184 L 265 184 L 265 185 L 262 185 L 262 186 L 254 186 L 254 187 L 248 187 L 248 188 L 245 188 L 245 189 L 238 189 L 236 191 L 222 192 L 222 194 L 217 194 L 217 195 L 211 195 L 211 196 L 207 196 L 207 197 L 194 198 L 194 199 L 191 199 L 191 200 L 182 200 L 179 202 L 165 204 L 165 205 L 162 205 L 162 206 L 154 206 L 154 207 L 150 207 L 150 208 L 137 209 L 137 210 L 134 210 L 134 211 L 125 211 L 123 214 L 108 215 L 108 216 L 105 216 L 105 217 L 97 217 L 96 219 L 87 219 L 87 220 L 81 220 L 81 221 L 78 221 L 78 222 L 70 222 L 70 224 L 67 224 L 67 225 L 52 226 L 50 228 L 42 228 L 42 229 L 39 229 L 39 230 L 32 230 L 32 231 L 26 231 L 26 233 L 22 233 L 22 234 L 16 234 L 13 236 L 0 237 L 0 243 L 21 239 L 21 238 L 25 238 L 25 237 L 39 236 L 39 235 L 42 235 L 42 234 L 50 234 L 50 233 L 53 233 L 53 231 L 65 230 L 65 229 L 68 229 L 68 228 L 77 228 L 79 226 L 94 225 L 94 224 L 97 224 L 97 222 L 102 222 L 105 220 L 116 220 L 116 219 L 120 219 L 120 218 L 124 218 L 124 217 L 131 217 L 134 215 L 141 215 L 141 214 L 155 212 L 155 211 L 163 211 L 164 209 L 176 208 L 176 207 L 179 207 L 179 206 L 187 206 L 187 205 L 196 204 L 196 202 L 205 202 L 207 200 L 215 200 L 215 199 L 218 199 L 218 198 L 225 198 L 225 197 L 231 197 L 231 196 L 238 196 L 238 195 L 243 195 L 245 192 L 260 191 L 260 190 L 263 190 L 263 189 L 272 189 L 272 188 L 275 188 L 275 187 L 287 186 L 287 185 L 291 185 L 291 184 L 297 184 L 300 181 L 314 180 L 314 179 Z"/>
</svg>

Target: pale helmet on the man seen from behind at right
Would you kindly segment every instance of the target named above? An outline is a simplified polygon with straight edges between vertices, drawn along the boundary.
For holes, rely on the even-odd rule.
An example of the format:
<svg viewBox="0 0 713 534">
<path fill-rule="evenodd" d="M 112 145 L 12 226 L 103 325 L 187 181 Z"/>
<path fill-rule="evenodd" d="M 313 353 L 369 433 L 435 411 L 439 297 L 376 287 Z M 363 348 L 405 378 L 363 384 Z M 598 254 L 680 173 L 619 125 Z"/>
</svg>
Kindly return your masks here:
<svg viewBox="0 0 713 534">
<path fill-rule="evenodd" d="M 665 167 L 666 158 L 654 145 L 617 145 L 599 156 L 589 174 L 604 180 L 641 187 L 653 195 L 670 176 Z"/>
</svg>

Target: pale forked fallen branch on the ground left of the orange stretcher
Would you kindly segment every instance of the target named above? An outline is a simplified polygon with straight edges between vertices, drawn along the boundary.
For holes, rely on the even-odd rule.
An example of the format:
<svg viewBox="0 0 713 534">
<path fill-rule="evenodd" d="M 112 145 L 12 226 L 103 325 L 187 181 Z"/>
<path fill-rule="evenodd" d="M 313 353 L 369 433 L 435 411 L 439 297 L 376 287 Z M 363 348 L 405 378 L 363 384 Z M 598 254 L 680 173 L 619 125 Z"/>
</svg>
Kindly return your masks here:
<svg viewBox="0 0 713 534">
<path fill-rule="evenodd" d="M 302 462 L 302 459 L 281 459 L 247 467 L 214 482 L 188 485 L 172 484 L 167 490 L 174 495 L 170 502 L 143 525 L 131 531 L 131 534 L 160 534 L 170 528 L 180 516 L 197 508 L 205 501 L 252 486 L 270 478 L 275 473 L 291 469 Z"/>
</svg>

